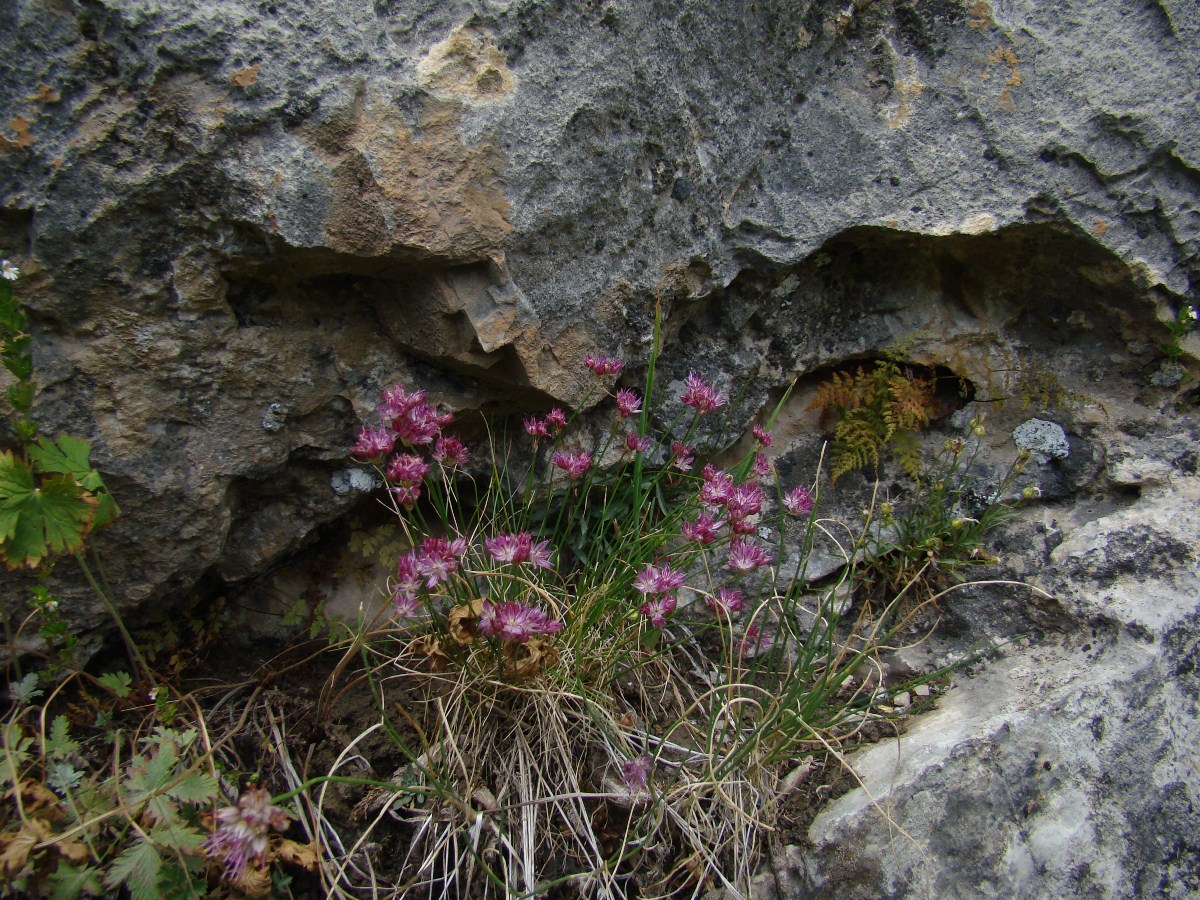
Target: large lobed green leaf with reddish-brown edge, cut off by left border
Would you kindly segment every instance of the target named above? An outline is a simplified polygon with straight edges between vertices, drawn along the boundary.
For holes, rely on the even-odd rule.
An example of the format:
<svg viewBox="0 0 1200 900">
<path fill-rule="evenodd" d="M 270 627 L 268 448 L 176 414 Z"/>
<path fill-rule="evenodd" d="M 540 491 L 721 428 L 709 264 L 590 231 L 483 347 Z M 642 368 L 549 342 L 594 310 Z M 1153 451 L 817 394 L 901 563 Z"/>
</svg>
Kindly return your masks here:
<svg viewBox="0 0 1200 900">
<path fill-rule="evenodd" d="M 0 554 L 10 569 L 36 566 L 50 553 L 72 553 L 96 516 L 96 498 L 71 475 L 35 484 L 11 451 L 0 452 Z"/>
</svg>

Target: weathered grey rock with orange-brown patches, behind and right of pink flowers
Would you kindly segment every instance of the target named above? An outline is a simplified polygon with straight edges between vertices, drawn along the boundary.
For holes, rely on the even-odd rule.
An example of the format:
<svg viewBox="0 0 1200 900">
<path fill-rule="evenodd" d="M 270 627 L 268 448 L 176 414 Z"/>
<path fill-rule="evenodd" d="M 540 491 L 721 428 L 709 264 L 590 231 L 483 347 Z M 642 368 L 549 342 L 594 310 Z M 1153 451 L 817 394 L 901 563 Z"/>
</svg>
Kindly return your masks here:
<svg viewBox="0 0 1200 900">
<path fill-rule="evenodd" d="M 852 794 L 800 868 L 871 896 L 1033 895 L 1051 870 L 1055 893 L 1182 895 L 1196 427 L 1194 382 L 1159 364 L 1200 269 L 1198 55 L 1186 0 L 11 0 L 0 253 L 26 276 L 36 412 L 94 443 L 134 610 L 251 583 L 359 503 L 344 448 L 383 385 L 578 403 L 586 353 L 644 361 L 656 300 L 667 378 L 738 386 L 734 432 L 913 332 L 980 408 L 1049 370 L 1086 402 L 1031 475 L 1027 530 L 1055 536 L 1012 566 L 1068 637 L 918 726 L 902 778 L 880 764 L 868 788 L 925 836 Z M 1033 793 L 1001 815 L 1014 779 Z"/>
</svg>

